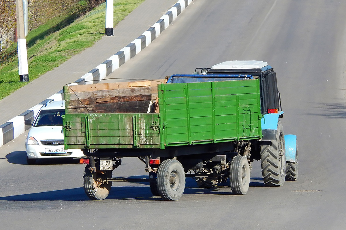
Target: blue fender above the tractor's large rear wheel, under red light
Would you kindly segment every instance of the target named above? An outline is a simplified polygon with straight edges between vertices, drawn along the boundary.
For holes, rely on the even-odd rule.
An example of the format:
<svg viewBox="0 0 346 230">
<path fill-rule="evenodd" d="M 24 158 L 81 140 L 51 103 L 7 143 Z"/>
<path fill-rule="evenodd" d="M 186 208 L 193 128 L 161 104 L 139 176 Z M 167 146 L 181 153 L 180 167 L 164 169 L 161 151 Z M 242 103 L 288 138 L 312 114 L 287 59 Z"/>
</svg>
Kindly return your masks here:
<svg viewBox="0 0 346 230">
<path fill-rule="evenodd" d="M 278 113 L 268 113 L 261 119 L 262 141 L 275 140 L 277 133 L 277 122 L 283 117 L 283 111 Z"/>
</svg>

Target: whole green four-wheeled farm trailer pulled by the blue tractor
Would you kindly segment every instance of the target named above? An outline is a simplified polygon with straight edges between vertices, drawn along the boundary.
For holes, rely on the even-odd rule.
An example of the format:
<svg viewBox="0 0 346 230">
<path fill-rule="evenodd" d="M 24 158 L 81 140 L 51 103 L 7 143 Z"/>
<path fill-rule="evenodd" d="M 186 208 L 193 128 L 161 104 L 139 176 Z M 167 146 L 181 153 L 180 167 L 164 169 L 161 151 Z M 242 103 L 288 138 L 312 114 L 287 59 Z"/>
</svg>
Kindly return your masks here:
<svg viewBox="0 0 346 230">
<path fill-rule="evenodd" d="M 113 181 L 130 181 L 112 176 L 124 157 L 145 163 L 153 195 L 165 200 L 182 196 L 185 177 L 202 188 L 229 178 L 234 194 L 246 194 L 251 162 L 264 157 L 265 148 L 273 151 L 273 134 L 262 133 L 261 78 L 199 77 L 64 86 L 65 148 L 82 149 L 86 156 L 81 163 L 87 164 L 83 185 L 89 198 L 104 199 Z M 285 173 L 283 133 L 274 138 L 280 146 L 276 168 L 283 162 L 278 172 Z M 269 184 L 282 185 L 282 178 Z"/>
</svg>

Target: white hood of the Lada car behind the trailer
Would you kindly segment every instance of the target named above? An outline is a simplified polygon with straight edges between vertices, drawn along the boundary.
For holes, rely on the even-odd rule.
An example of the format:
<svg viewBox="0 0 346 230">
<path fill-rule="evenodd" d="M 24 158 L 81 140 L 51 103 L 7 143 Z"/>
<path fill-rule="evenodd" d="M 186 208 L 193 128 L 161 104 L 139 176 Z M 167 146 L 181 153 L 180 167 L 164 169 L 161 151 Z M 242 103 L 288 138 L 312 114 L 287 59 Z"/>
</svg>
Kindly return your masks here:
<svg viewBox="0 0 346 230">
<path fill-rule="evenodd" d="M 28 137 L 34 137 L 36 140 L 63 140 L 62 126 L 40 126 L 31 127 Z"/>
</svg>

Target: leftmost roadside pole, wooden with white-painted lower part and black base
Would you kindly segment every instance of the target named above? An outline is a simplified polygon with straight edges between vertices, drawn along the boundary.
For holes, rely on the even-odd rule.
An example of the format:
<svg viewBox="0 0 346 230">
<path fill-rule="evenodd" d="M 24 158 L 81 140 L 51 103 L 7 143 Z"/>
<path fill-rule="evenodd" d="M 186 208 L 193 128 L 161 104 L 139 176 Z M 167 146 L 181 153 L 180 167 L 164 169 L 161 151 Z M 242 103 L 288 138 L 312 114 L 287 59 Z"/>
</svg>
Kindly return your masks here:
<svg viewBox="0 0 346 230">
<path fill-rule="evenodd" d="M 19 81 L 29 81 L 22 0 L 16 0 Z"/>
</svg>

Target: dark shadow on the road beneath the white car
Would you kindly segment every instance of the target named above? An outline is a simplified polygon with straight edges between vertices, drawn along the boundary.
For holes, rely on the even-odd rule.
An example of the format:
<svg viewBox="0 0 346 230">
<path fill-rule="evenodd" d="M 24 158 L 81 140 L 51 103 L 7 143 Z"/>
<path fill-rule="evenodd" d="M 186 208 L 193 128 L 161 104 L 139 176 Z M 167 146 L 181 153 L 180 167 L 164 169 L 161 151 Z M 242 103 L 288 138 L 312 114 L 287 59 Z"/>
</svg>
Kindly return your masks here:
<svg viewBox="0 0 346 230">
<path fill-rule="evenodd" d="M 13 151 L 6 155 L 6 159 L 11 164 L 27 164 L 26 162 L 26 151 Z M 50 159 L 39 159 L 35 164 L 77 164 L 79 159 L 72 158 L 50 158 Z"/>
</svg>

